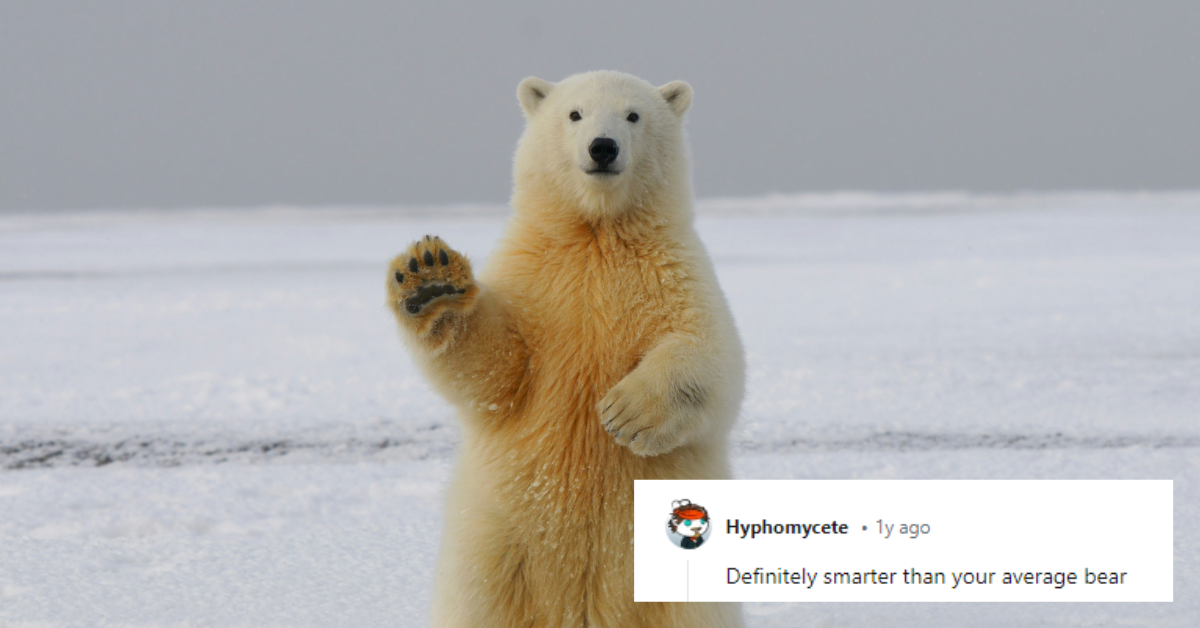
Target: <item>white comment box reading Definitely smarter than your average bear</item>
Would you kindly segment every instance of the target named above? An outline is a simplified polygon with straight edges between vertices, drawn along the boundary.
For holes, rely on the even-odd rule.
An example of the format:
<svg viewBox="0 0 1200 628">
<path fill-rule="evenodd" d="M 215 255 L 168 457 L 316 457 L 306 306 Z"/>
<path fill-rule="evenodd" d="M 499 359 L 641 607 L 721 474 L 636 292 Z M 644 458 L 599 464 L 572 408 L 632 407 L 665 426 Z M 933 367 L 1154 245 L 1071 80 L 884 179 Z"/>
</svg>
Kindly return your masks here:
<svg viewBox="0 0 1200 628">
<path fill-rule="evenodd" d="M 1172 602 L 1172 489 L 636 480 L 634 599 Z"/>
</svg>

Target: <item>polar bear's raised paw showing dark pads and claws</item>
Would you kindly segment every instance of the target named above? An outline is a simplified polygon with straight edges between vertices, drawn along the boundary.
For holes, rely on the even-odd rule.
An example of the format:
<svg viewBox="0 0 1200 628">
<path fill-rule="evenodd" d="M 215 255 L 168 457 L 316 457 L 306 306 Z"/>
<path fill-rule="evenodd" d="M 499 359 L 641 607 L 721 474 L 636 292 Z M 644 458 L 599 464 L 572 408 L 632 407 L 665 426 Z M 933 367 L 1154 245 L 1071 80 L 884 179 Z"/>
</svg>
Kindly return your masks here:
<svg viewBox="0 0 1200 628">
<path fill-rule="evenodd" d="M 392 259 L 388 275 L 392 309 L 409 317 L 464 309 L 476 292 L 467 258 L 436 235 L 416 240 Z"/>
</svg>

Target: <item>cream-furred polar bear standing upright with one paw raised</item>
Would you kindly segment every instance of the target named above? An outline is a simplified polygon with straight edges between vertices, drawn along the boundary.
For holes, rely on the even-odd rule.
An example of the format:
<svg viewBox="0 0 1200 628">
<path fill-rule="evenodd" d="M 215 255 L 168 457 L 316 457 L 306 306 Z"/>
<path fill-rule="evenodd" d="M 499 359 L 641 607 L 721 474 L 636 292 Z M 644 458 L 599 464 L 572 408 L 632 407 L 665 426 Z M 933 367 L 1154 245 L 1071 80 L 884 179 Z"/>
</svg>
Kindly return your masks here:
<svg viewBox="0 0 1200 628">
<path fill-rule="evenodd" d="M 634 479 L 728 478 L 744 357 L 692 227 L 692 90 L 527 78 L 512 216 L 476 279 L 426 235 L 388 303 L 462 451 L 439 627 L 728 627 L 736 604 L 634 603 Z"/>
</svg>

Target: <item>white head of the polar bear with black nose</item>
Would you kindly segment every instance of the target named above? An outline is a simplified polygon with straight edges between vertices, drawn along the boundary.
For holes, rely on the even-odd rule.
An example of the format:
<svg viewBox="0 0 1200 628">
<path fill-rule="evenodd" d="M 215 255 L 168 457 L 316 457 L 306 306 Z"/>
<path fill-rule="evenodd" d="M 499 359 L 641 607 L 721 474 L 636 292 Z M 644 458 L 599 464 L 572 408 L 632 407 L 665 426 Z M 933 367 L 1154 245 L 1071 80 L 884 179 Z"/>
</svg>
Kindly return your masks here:
<svg viewBox="0 0 1200 628">
<path fill-rule="evenodd" d="M 522 80 L 517 100 L 527 125 L 515 195 L 593 220 L 682 201 L 689 193 L 683 114 L 691 94 L 682 80 L 655 88 L 620 72 Z"/>
</svg>

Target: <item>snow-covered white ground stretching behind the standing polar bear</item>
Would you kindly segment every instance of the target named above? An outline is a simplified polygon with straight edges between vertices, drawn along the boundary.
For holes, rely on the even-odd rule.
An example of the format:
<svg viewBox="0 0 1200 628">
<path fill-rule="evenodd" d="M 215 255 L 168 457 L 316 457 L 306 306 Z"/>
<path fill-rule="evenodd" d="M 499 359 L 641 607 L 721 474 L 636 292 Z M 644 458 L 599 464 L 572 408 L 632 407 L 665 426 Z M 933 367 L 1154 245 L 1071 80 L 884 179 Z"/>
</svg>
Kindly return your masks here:
<svg viewBox="0 0 1200 628">
<path fill-rule="evenodd" d="M 503 208 L 0 214 L 0 626 L 424 626 L 449 407 L 383 305 Z M 1175 480 L 1170 604 L 750 626 L 1196 626 L 1200 193 L 714 199 L 743 478 Z"/>
</svg>

